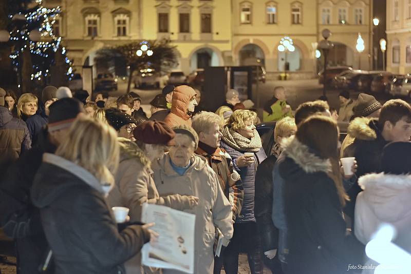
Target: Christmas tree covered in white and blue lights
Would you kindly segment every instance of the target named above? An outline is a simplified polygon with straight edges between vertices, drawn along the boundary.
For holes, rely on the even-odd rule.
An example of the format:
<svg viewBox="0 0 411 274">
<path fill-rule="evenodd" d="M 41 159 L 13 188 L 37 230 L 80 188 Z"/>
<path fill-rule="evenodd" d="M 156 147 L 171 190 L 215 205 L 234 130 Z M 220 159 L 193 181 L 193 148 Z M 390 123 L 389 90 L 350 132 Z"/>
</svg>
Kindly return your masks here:
<svg viewBox="0 0 411 274">
<path fill-rule="evenodd" d="M 61 12 L 60 7 L 46 8 L 43 0 L 9 0 L 9 40 L 12 44 L 10 58 L 19 74 L 18 87 L 28 92 L 36 86 L 50 83 L 52 69 L 63 60 L 65 79 L 73 76 L 71 61 L 62 46 L 62 38 L 53 32 L 53 25 Z M 58 56 L 58 55 L 62 56 Z M 61 62 L 58 62 L 61 63 Z M 54 75 L 61 79 L 61 75 Z"/>
</svg>

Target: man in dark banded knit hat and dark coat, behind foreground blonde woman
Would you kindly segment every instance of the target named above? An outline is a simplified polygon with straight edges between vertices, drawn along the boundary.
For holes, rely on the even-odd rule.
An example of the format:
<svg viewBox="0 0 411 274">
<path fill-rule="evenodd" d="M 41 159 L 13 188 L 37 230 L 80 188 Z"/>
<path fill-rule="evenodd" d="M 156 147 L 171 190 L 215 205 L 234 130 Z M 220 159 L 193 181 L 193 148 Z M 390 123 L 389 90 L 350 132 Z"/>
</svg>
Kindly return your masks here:
<svg viewBox="0 0 411 274">
<path fill-rule="evenodd" d="M 44 263 L 48 244 L 39 210 L 30 200 L 30 189 L 44 153 L 54 153 L 74 119 L 83 112 L 77 99 L 65 98 L 50 106 L 49 124 L 38 143 L 12 165 L 0 183 L 0 225 L 16 240 L 17 271 L 35 274 Z M 50 271 L 52 271 L 50 269 Z M 51 273 L 51 272 L 50 272 Z"/>
</svg>

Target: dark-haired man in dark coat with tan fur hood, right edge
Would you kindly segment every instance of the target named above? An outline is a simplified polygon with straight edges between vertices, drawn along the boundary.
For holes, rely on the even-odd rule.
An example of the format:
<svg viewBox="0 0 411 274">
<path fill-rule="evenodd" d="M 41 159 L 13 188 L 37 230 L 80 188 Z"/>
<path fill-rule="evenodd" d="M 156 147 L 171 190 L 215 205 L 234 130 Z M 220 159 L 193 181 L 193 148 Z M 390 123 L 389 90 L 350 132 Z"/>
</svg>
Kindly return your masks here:
<svg viewBox="0 0 411 274">
<path fill-rule="evenodd" d="M 403 100 L 387 101 L 381 109 L 379 120 L 356 118 L 348 127 L 348 133 L 355 138 L 343 153 L 344 157 L 355 157 L 358 163 L 356 175 L 381 172 L 381 154 L 390 142 L 408 142 L 411 138 L 411 106 Z M 347 192 L 350 202 L 345 207 L 348 216 L 353 217 L 358 193 L 362 190 L 355 183 Z"/>
</svg>

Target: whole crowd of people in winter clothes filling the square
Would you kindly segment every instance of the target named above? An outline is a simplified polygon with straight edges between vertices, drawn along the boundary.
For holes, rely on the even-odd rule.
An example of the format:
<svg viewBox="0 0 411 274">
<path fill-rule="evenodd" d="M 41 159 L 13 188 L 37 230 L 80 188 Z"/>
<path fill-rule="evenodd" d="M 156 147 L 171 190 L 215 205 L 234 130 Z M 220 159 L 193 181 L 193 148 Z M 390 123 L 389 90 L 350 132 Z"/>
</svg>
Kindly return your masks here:
<svg viewBox="0 0 411 274">
<path fill-rule="evenodd" d="M 0 89 L 0 226 L 18 273 L 176 273 L 141 264 L 142 246 L 159 237 L 141 223 L 144 203 L 195 215 L 199 274 L 238 273 L 239 253 L 252 274 L 361 273 L 378 264 L 365 245 L 384 222 L 411 251 L 403 100 L 342 91 L 339 111 L 326 99 L 293 111 L 276 87 L 263 110 L 276 122 L 267 149 L 257 110 L 234 89 L 210 112 L 199 90 L 166 86 L 149 115 L 135 92 L 93 102 L 47 86 L 39 97 Z M 114 206 L 129 208 L 125 222 Z"/>
</svg>

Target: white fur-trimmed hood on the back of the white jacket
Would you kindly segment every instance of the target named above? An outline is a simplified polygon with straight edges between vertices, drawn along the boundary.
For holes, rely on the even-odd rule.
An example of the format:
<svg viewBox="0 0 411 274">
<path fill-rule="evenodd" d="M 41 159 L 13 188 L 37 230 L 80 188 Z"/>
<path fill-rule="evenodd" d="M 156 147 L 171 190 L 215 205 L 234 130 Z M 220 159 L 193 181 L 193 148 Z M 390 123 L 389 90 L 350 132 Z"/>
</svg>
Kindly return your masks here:
<svg viewBox="0 0 411 274">
<path fill-rule="evenodd" d="M 370 173 L 358 184 L 364 189 L 364 201 L 380 221 L 396 222 L 411 215 L 411 174 Z"/>
</svg>

